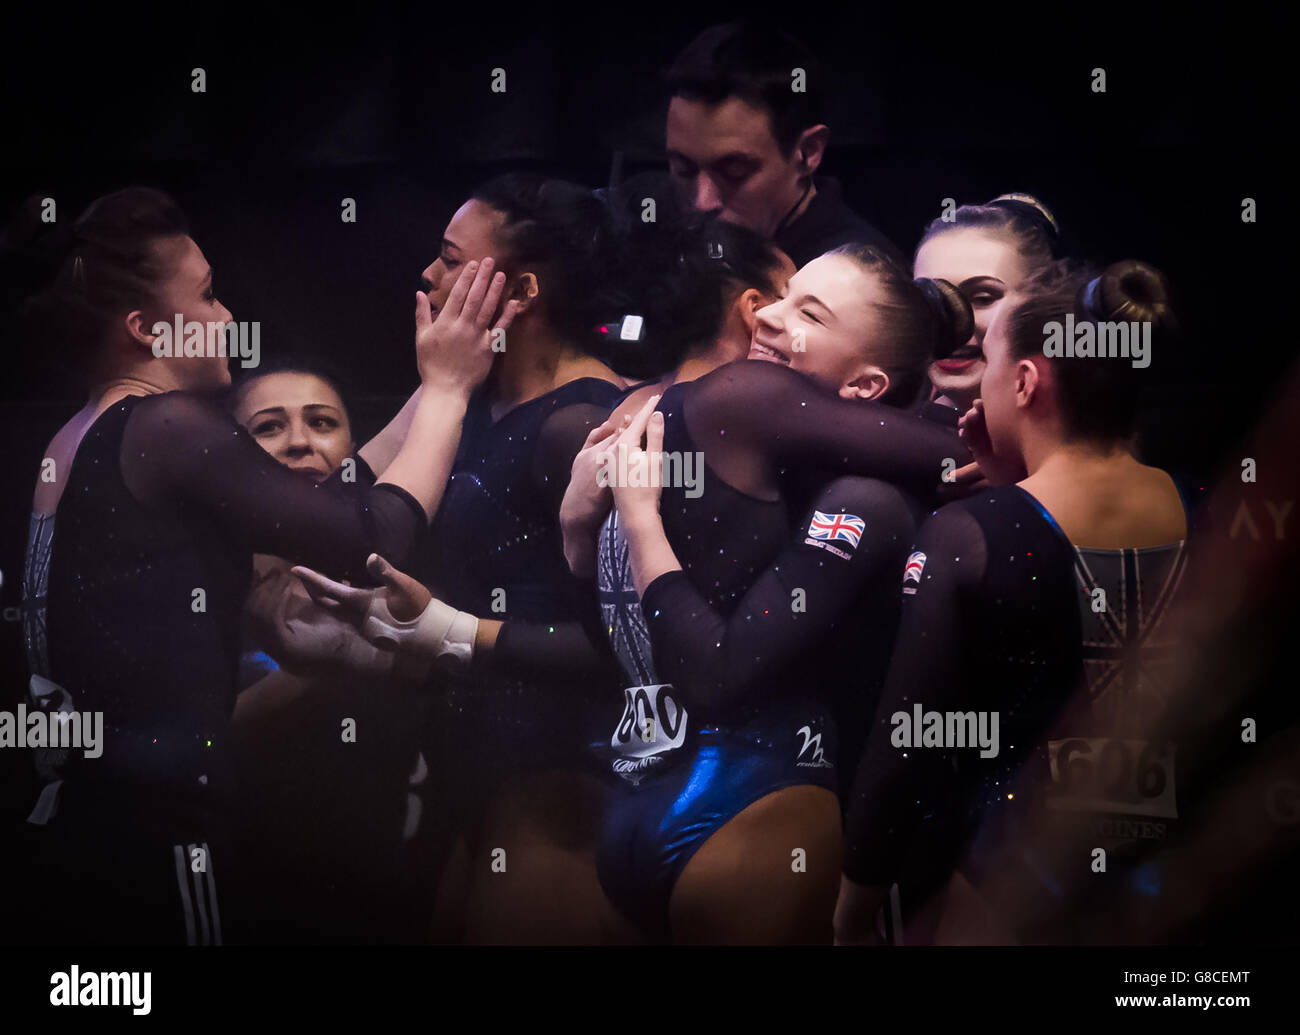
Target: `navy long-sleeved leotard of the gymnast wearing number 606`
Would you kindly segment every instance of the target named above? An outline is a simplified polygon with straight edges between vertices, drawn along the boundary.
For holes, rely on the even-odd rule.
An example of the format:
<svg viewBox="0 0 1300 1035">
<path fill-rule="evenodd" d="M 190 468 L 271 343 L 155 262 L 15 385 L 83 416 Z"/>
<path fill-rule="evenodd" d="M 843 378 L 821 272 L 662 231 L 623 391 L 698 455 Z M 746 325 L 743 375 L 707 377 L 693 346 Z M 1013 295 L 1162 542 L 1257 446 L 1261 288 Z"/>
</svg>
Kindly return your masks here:
<svg viewBox="0 0 1300 1035">
<path fill-rule="evenodd" d="M 958 865 L 975 878 L 1000 865 L 1005 832 L 1044 806 L 1082 819 L 1089 850 L 1131 843 L 1141 827 L 1164 833 L 1176 817 L 1174 745 L 1134 737 L 1162 700 L 1166 616 L 1186 563 L 1183 542 L 1078 549 L 1017 486 L 936 512 L 904 575 L 898 641 L 849 809 L 848 876 L 901 880 L 905 908 L 919 904 Z M 1080 693 L 1083 706 L 1067 710 Z M 897 746 L 894 716 L 916 707 L 996 714 L 997 754 Z"/>
</svg>

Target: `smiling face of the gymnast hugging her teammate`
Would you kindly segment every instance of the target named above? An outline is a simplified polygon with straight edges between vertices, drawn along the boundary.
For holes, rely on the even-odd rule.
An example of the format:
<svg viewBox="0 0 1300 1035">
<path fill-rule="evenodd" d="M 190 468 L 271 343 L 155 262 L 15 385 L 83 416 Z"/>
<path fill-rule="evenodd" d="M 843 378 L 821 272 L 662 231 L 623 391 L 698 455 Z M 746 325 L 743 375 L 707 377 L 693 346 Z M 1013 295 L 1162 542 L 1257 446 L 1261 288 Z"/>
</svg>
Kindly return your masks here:
<svg viewBox="0 0 1300 1035">
<path fill-rule="evenodd" d="M 880 330 L 876 278 L 842 255 L 823 255 L 790 277 L 785 296 L 759 309 L 749 358 L 781 363 L 841 395 L 853 389 Z"/>
</svg>

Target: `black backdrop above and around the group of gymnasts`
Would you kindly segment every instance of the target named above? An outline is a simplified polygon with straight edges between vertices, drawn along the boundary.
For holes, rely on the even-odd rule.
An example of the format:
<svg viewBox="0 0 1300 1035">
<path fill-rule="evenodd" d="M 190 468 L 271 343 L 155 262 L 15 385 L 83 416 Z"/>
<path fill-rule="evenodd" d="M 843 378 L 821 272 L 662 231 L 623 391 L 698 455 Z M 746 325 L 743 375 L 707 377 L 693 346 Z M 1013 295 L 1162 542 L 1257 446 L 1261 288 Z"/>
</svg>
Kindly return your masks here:
<svg viewBox="0 0 1300 1035">
<path fill-rule="evenodd" d="M 469 187 L 504 168 L 602 186 L 616 150 L 629 174 L 662 164 L 660 72 L 702 27 L 746 10 L 758 14 L 638 3 L 6 12 L 0 216 L 36 191 L 65 220 L 129 183 L 170 191 L 221 300 L 261 321 L 263 356 L 315 351 L 347 372 L 364 441 L 415 386 L 411 295 Z M 1296 121 L 1280 16 L 789 4 L 760 17 L 827 64 L 823 168 L 905 251 L 941 199 L 1022 190 L 1083 254 L 1164 268 L 1188 333 L 1153 355 L 1145 455 L 1193 478 L 1231 456 L 1296 351 L 1280 320 L 1295 290 L 1279 256 Z M 205 94 L 190 90 L 195 66 Z M 498 66 L 504 94 L 489 88 Z M 344 196 L 356 224 L 339 220 Z M 1247 196 L 1253 225 L 1240 218 Z M 12 707 L 31 489 L 83 399 L 57 343 L 3 348 L 0 706 Z M 4 754 L 0 776 L 18 753 Z"/>
</svg>

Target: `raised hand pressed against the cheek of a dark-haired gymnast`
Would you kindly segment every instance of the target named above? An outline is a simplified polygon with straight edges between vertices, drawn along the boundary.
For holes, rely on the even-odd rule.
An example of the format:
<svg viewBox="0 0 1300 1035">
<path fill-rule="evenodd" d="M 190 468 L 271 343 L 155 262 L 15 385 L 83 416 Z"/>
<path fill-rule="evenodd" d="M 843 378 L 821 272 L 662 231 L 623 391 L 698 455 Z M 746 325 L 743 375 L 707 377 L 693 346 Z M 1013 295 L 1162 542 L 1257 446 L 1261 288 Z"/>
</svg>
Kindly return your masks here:
<svg viewBox="0 0 1300 1035">
<path fill-rule="evenodd" d="M 510 299 L 493 324 L 506 290 L 506 274 L 493 268 L 490 257 L 469 263 L 437 319 L 429 296 L 416 291 L 415 354 L 422 384 L 468 393 L 488 376 L 495 356 L 493 334 L 504 332 L 519 311 L 519 303 Z"/>
</svg>

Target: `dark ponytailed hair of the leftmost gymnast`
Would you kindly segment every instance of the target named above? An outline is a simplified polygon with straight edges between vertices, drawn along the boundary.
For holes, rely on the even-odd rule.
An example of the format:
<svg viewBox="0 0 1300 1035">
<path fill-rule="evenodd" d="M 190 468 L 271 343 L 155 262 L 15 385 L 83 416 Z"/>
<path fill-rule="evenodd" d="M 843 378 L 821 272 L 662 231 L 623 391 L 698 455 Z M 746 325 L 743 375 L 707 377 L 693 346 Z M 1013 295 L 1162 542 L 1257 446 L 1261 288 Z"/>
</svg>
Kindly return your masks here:
<svg viewBox="0 0 1300 1035">
<path fill-rule="evenodd" d="M 188 222 L 150 187 L 107 194 L 72 224 L 43 224 L 43 204 L 29 198 L 0 241 L 6 308 L 21 338 L 87 359 L 114 319 L 156 303 L 174 268 L 159 244 L 188 234 Z"/>
</svg>

